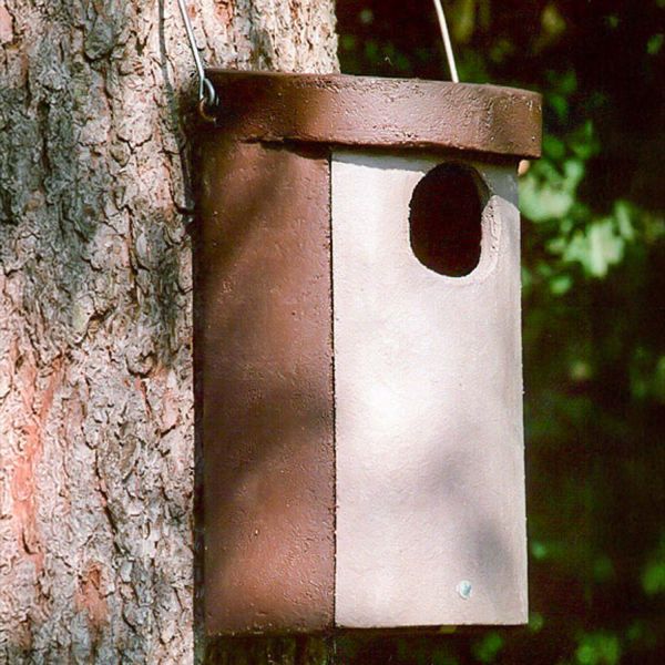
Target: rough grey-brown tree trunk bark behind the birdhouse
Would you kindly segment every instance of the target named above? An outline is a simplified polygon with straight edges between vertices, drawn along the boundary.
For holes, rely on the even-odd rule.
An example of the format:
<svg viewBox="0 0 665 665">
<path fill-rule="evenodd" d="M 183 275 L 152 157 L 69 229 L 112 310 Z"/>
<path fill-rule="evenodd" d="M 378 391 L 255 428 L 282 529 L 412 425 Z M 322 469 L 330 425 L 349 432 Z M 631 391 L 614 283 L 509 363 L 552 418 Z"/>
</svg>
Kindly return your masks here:
<svg viewBox="0 0 665 665">
<path fill-rule="evenodd" d="M 337 69 L 332 0 L 190 6 L 209 64 Z M 0 0 L 0 663 L 196 657 L 194 71 L 175 0 Z"/>
</svg>

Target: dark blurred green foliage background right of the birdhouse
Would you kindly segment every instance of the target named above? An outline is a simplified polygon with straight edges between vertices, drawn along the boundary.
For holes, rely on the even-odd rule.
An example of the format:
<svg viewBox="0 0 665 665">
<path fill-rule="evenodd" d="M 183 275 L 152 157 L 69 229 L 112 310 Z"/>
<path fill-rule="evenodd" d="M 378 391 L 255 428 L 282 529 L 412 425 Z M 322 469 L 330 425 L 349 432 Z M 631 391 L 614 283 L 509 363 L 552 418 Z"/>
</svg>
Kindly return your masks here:
<svg viewBox="0 0 665 665">
<path fill-rule="evenodd" d="M 665 0 L 444 0 L 464 82 L 544 95 L 521 178 L 531 618 L 344 665 L 665 663 Z M 447 79 L 432 2 L 337 0 L 346 73 Z"/>
</svg>

